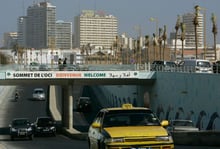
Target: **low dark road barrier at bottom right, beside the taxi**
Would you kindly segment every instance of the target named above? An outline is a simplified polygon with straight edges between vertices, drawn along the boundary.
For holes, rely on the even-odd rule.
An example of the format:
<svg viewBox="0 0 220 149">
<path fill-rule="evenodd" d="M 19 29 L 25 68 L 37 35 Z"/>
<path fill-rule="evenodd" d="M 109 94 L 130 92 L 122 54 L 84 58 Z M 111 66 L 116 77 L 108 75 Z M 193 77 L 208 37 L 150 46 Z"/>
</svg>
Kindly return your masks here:
<svg viewBox="0 0 220 149">
<path fill-rule="evenodd" d="M 220 146 L 220 131 L 174 132 L 175 145 Z"/>
</svg>

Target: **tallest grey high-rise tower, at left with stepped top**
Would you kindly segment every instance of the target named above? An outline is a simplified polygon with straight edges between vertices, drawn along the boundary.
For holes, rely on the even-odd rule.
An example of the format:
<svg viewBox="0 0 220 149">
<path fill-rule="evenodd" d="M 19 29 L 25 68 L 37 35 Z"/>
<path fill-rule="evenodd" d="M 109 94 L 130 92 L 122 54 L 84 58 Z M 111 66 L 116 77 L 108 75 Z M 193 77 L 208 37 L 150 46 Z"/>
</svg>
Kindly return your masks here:
<svg viewBox="0 0 220 149">
<path fill-rule="evenodd" d="M 27 9 L 27 47 L 55 48 L 56 6 L 41 2 Z"/>
</svg>

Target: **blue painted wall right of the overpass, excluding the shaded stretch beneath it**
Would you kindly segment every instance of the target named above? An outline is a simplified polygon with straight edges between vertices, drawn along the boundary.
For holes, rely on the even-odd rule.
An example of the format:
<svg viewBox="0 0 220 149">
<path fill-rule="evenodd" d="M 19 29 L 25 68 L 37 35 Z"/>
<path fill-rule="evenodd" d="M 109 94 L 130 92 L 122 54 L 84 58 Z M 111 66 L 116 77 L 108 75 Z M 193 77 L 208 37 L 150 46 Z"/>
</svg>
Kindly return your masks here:
<svg viewBox="0 0 220 149">
<path fill-rule="evenodd" d="M 201 130 L 220 130 L 220 75 L 158 72 L 150 94 L 160 119 L 192 119 Z"/>
</svg>

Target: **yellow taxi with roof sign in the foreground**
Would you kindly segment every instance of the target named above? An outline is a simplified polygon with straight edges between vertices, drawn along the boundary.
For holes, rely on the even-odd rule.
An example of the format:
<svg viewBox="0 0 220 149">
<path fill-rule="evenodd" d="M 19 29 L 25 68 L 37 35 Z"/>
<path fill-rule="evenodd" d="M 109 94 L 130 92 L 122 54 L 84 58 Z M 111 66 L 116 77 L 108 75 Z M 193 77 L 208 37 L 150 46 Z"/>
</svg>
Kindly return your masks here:
<svg viewBox="0 0 220 149">
<path fill-rule="evenodd" d="M 89 148 L 174 149 L 173 138 L 164 128 L 167 125 L 149 108 L 132 104 L 103 108 L 89 127 Z"/>
</svg>

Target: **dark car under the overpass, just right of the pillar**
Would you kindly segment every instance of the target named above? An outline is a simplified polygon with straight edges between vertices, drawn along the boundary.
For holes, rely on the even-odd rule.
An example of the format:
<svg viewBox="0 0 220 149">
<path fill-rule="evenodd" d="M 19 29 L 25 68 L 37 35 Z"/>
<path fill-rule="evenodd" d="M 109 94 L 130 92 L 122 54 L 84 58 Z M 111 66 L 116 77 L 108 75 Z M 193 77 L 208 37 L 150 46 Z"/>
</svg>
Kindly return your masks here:
<svg viewBox="0 0 220 149">
<path fill-rule="evenodd" d="M 90 111 L 91 110 L 91 99 L 90 97 L 79 97 L 77 101 L 77 111 Z"/>
</svg>

